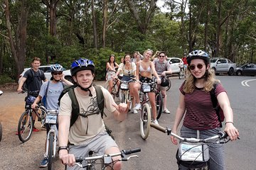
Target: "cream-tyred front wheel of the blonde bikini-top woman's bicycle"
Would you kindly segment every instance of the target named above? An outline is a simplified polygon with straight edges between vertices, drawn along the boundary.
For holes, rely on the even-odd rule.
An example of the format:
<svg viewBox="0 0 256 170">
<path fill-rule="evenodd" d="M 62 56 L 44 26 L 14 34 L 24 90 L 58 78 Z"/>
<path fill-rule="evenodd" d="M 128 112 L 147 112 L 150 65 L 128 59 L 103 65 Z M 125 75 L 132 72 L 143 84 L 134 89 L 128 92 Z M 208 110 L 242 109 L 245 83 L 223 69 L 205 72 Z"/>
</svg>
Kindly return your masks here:
<svg viewBox="0 0 256 170">
<path fill-rule="evenodd" d="M 149 137 L 149 128 L 151 123 L 151 111 L 148 103 L 144 103 L 140 115 L 140 132 L 142 139 L 146 140 Z"/>
</svg>

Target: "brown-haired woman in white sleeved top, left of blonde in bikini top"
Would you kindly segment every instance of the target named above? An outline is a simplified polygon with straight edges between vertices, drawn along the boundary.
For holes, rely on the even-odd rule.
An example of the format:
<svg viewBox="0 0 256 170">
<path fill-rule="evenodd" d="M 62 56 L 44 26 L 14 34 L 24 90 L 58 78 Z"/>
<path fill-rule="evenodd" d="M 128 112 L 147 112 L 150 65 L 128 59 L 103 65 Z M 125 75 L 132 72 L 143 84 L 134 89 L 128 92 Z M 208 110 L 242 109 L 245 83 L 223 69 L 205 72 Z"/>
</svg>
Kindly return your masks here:
<svg viewBox="0 0 256 170">
<path fill-rule="evenodd" d="M 116 77 L 120 74 L 123 73 L 123 77 L 121 81 L 130 81 L 131 77 L 136 76 L 136 64 L 134 62 L 131 62 L 131 56 L 129 54 L 124 55 L 124 62 L 119 64 L 119 68 L 116 73 Z M 135 105 L 135 100 L 134 100 L 134 93 L 137 91 L 134 91 L 134 82 L 130 81 L 129 82 L 129 94 L 132 98 L 132 106 Z M 136 114 L 137 111 L 135 110 L 134 113 Z"/>
</svg>

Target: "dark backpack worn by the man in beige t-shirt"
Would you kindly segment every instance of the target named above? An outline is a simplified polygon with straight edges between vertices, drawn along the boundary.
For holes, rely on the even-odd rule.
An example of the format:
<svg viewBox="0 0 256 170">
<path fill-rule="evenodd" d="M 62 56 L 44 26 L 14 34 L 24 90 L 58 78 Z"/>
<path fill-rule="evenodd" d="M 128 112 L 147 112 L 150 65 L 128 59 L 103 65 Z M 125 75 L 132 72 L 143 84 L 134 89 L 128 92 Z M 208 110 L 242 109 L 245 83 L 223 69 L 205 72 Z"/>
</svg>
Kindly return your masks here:
<svg viewBox="0 0 256 170">
<path fill-rule="evenodd" d="M 79 104 L 78 104 L 78 99 L 75 96 L 75 87 L 77 87 L 77 84 L 71 85 L 71 86 L 65 86 L 65 88 L 63 89 L 63 91 L 61 92 L 59 98 L 58 98 L 58 104 L 60 105 L 60 99 L 63 97 L 64 94 L 68 93 L 68 96 L 70 96 L 70 99 L 72 101 L 72 111 L 71 111 L 71 119 L 70 119 L 70 128 L 72 125 L 74 125 L 75 121 L 78 119 L 78 113 L 80 112 L 80 108 L 79 108 Z M 97 97 L 97 106 L 100 109 L 100 114 L 101 117 L 103 119 L 103 116 L 105 115 L 107 117 L 107 115 L 104 113 L 104 96 L 102 93 L 102 89 L 100 89 L 100 86 L 97 86 L 95 84 L 93 84 L 93 86 L 95 87 L 95 91 L 96 91 L 96 97 Z M 107 133 L 113 138 L 114 137 L 111 135 L 112 130 L 110 130 L 109 128 L 107 128 L 107 126 L 105 125 L 105 128 L 107 130 Z"/>
</svg>

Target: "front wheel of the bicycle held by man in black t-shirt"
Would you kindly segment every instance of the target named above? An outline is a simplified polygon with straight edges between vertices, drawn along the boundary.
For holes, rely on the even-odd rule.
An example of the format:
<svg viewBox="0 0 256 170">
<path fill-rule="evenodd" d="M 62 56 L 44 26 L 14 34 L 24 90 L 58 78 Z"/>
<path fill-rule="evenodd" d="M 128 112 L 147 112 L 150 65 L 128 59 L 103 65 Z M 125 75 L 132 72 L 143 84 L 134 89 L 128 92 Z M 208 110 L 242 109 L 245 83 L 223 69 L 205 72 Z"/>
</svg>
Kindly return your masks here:
<svg viewBox="0 0 256 170">
<path fill-rule="evenodd" d="M 29 110 L 23 112 L 18 120 L 18 139 L 21 142 L 28 141 L 32 135 L 32 115 L 29 115 L 29 112 Z"/>
</svg>

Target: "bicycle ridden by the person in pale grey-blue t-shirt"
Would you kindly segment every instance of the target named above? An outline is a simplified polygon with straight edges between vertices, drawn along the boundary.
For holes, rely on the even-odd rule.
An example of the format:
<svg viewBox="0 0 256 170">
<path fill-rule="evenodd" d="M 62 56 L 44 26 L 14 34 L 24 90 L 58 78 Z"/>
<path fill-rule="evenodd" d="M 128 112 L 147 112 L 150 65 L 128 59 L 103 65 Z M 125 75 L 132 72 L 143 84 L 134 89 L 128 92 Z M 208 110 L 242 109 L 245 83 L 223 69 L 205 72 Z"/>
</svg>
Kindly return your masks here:
<svg viewBox="0 0 256 170">
<path fill-rule="evenodd" d="M 46 155 L 48 159 L 48 170 L 52 169 L 53 158 L 56 156 L 56 145 L 58 141 L 58 128 L 57 122 L 58 120 L 58 111 L 55 110 L 47 110 L 46 117 L 43 120 L 43 125 L 49 125 L 50 130 L 47 134 L 46 140 Z"/>
</svg>

